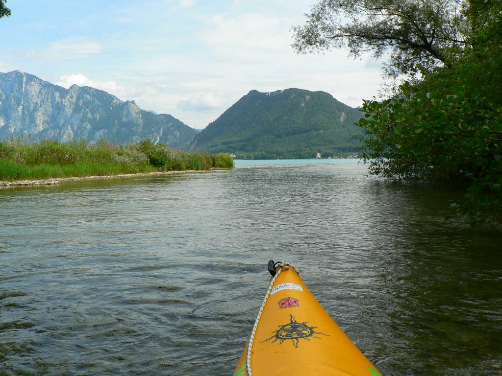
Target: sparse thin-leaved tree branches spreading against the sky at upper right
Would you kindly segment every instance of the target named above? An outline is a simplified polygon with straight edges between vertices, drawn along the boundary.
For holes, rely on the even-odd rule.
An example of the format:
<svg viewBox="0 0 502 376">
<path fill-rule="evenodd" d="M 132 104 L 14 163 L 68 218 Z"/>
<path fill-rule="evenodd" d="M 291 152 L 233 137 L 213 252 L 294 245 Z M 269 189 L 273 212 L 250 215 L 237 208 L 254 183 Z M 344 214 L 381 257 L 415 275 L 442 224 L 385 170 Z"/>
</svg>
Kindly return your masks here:
<svg viewBox="0 0 502 376">
<path fill-rule="evenodd" d="M 321 0 L 303 26 L 293 27 L 300 53 L 348 48 L 358 57 L 389 52 L 389 75 L 451 66 L 466 45 L 462 1 Z"/>
</svg>

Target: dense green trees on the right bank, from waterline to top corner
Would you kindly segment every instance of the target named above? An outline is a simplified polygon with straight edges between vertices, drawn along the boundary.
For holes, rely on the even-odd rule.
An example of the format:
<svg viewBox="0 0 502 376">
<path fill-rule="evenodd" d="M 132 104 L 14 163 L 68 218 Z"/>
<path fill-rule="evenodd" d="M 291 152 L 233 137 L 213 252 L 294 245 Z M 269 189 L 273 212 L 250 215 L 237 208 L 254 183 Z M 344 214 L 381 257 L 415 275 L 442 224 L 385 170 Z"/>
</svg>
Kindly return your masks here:
<svg viewBox="0 0 502 376">
<path fill-rule="evenodd" d="M 320 4 L 328 3 L 335 2 Z M 426 3 L 428 7 L 446 4 L 436 0 Z M 397 70 L 419 67 L 421 76 L 405 82 L 390 98 L 364 101 L 364 117 L 358 122 L 368 135 L 363 157 L 369 161 L 371 174 L 465 186 L 463 199 L 451 208 L 471 223 L 490 216 L 500 221 L 502 2 L 472 0 L 460 5 L 461 12 L 454 18 L 458 22 L 443 25 L 451 30 L 444 30 L 443 34 L 450 36 L 444 38 L 445 44 L 436 45 L 439 54 L 425 56 L 423 47 L 409 44 L 409 49 L 417 51 L 401 55 L 397 51 L 408 62 L 398 66 L 391 60 Z M 438 18 L 451 20 L 451 9 L 443 7 L 444 14 Z M 415 18 L 420 20 L 417 12 Z M 375 24 L 366 26 L 373 36 L 381 35 Z M 401 27 L 396 26 L 399 30 Z M 364 38 L 358 40 L 360 46 L 366 43 Z M 429 64 L 431 58 L 441 64 Z M 400 72 L 416 73 L 413 69 Z"/>
</svg>

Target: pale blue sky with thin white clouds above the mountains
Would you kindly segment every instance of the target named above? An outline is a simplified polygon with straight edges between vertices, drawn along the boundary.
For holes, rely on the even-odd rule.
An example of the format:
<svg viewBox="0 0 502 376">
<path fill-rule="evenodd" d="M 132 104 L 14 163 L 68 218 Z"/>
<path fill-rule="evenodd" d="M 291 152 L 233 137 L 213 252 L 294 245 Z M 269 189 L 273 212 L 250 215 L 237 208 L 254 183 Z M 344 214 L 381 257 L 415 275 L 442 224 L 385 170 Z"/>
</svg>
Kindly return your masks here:
<svg viewBox="0 0 502 376">
<path fill-rule="evenodd" d="M 204 128 L 250 90 L 322 90 L 356 107 L 380 63 L 342 50 L 297 55 L 310 0 L 8 0 L 0 72 L 105 90 Z"/>
</svg>

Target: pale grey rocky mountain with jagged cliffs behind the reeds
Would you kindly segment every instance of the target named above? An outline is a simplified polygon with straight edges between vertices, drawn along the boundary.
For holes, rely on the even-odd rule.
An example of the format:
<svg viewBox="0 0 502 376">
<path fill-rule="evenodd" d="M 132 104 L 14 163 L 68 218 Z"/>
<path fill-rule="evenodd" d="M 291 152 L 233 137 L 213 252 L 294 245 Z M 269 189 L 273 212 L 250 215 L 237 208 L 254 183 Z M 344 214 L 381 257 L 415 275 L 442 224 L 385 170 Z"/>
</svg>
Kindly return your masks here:
<svg viewBox="0 0 502 376">
<path fill-rule="evenodd" d="M 187 149 L 198 132 L 167 114 L 142 110 L 88 86 L 69 89 L 19 71 L 0 73 L 0 140 L 32 135 L 62 141 L 142 141 Z"/>
</svg>

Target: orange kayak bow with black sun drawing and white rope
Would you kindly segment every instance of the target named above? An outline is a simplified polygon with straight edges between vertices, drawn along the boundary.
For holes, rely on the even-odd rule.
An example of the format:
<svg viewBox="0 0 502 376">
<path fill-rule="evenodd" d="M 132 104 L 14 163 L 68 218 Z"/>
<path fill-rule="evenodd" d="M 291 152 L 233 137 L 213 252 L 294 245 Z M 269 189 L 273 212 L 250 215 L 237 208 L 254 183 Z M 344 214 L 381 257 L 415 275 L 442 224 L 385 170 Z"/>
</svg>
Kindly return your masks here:
<svg viewBox="0 0 502 376">
<path fill-rule="evenodd" d="M 233 376 L 382 376 L 287 262 L 273 275 Z"/>
</svg>

